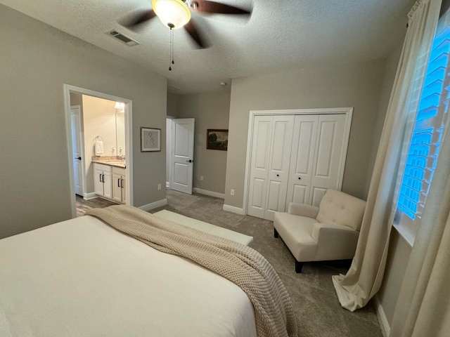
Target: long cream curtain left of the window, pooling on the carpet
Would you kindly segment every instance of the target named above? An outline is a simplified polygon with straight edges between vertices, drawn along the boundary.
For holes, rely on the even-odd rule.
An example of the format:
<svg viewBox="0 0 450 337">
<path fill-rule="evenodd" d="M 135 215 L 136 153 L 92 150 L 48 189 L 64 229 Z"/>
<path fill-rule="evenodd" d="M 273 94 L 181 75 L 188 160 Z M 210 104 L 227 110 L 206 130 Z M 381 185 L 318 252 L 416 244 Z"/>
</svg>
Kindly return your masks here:
<svg viewBox="0 0 450 337">
<path fill-rule="evenodd" d="M 347 275 L 333 276 L 339 301 L 350 311 L 364 307 L 383 281 L 398 173 L 406 157 L 404 143 L 411 138 L 441 2 L 419 0 L 408 15 L 409 28 L 387 107 L 356 253 Z"/>
</svg>

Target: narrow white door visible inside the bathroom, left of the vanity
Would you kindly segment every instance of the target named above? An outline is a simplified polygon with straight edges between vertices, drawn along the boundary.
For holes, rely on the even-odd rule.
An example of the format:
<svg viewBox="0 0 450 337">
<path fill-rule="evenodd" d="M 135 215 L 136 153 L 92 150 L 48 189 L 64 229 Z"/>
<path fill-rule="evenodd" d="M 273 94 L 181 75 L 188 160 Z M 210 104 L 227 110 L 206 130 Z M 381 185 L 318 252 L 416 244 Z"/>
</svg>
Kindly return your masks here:
<svg viewBox="0 0 450 337">
<path fill-rule="evenodd" d="M 82 118 L 79 106 L 70 107 L 70 126 L 72 128 L 72 157 L 75 194 L 83 195 L 83 165 L 82 165 Z"/>
</svg>

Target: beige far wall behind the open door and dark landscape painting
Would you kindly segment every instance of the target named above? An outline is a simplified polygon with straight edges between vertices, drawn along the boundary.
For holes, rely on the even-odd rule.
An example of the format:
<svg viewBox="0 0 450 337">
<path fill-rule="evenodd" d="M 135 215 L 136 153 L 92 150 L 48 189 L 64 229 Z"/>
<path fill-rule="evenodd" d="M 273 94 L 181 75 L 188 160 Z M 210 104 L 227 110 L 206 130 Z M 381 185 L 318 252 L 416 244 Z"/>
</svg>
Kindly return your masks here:
<svg viewBox="0 0 450 337">
<path fill-rule="evenodd" d="M 178 103 L 179 118 L 195 118 L 193 187 L 224 194 L 227 151 L 207 150 L 206 131 L 228 128 L 230 92 L 180 95 Z"/>
</svg>

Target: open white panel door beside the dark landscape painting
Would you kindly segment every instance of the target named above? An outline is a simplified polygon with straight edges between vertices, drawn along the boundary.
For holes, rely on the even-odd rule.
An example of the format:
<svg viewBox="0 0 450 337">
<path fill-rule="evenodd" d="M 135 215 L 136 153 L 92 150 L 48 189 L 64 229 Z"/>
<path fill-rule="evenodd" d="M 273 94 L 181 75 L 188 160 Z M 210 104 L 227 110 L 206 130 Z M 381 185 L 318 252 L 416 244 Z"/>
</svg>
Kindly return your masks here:
<svg viewBox="0 0 450 337">
<path fill-rule="evenodd" d="M 192 194 L 195 119 L 172 119 L 171 188 Z"/>
</svg>

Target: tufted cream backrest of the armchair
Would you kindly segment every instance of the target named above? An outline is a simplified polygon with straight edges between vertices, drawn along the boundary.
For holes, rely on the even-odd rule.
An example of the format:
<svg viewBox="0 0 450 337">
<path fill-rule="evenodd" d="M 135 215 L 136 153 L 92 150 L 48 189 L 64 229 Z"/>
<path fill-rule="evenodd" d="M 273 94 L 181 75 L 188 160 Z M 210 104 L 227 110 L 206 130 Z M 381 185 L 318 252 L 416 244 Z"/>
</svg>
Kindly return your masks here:
<svg viewBox="0 0 450 337">
<path fill-rule="evenodd" d="M 335 190 L 327 190 L 319 205 L 319 223 L 352 227 L 359 230 L 366 209 L 366 201 Z"/>
</svg>

